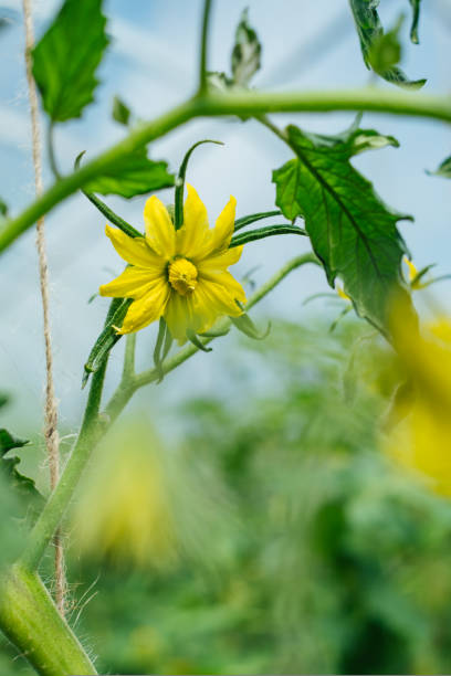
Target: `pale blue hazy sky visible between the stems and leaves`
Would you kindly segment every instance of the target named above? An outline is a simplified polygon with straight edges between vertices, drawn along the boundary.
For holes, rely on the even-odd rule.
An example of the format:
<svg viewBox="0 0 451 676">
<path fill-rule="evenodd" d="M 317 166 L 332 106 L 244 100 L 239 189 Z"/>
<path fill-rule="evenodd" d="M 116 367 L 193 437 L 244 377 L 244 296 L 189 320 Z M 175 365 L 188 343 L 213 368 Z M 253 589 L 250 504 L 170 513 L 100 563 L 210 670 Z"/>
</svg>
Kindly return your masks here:
<svg viewBox="0 0 451 676">
<path fill-rule="evenodd" d="M 82 1 L 82 0 L 81 0 Z M 254 84 L 272 89 L 338 88 L 368 82 L 357 36 L 346 0 L 251 0 L 250 18 L 263 42 L 262 71 Z M 426 91 L 450 93 L 449 46 L 451 3 L 427 0 L 422 3 L 419 46 L 406 40 L 403 67 L 412 78 L 428 77 Z M 10 20 L 0 34 L 0 171 L 1 197 L 12 213 L 33 197 L 30 128 L 23 66 L 21 2 L 1 2 Z M 35 33 L 39 36 L 59 2 L 35 2 Z M 192 93 L 196 84 L 201 2 L 190 0 L 109 0 L 105 2 L 112 44 L 99 76 L 96 102 L 83 119 L 56 130 L 57 156 L 69 171 L 74 157 L 86 150 L 90 157 L 118 140 L 124 131 L 112 122 L 115 94 L 144 119 L 153 118 Z M 229 66 L 233 32 L 241 0 L 217 0 L 212 15 L 212 70 Z M 275 9 L 276 8 L 276 9 Z M 409 12 L 407 0 L 381 0 L 380 13 L 391 25 L 399 12 Z M 408 21 L 405 33 L 408 32 Z M 389 86 L 385 83 L 378 86 Z M 350 114 L 279 116 L 281 125 L 297 123 L 303 128 L 335 133 L 347 126 Z M 274 117 L 276 119 L 276 117 Z M 44 120 L 43 120 L 44 124 Z M 415 223 L 402 223 L 401 231 L 418 266 L 438 264 L 439 273 L 451 272 L 450 225 L 451 184 L 428 177 L 451 154 L 451 130 L 436 122 L 366 115 L 364 126 L 396 136 L 400 149 L 387 148 L 355 159 L 355 165 L 374 181 L 382 199 L 400 212 L 415 215 Z M 238 200 L 238 214 L 271 209 L 274 204 L 272 169 L 290 158 L 281 141 L 254 122 L 231 119 L 196 120 L 158 140 L 150 149 L 156 159 L 166 159 L 176 169 L 186 149 L 200 138 L 216 138 L 226 146 L 201 147 L 189 167 L 189 181 L 204 200 L 211 221 L 229 194 Z M 46 181 L 51 177 L 46 171 Z M 169 202 L 169 191 L 161 193 Z M 141 223 L 145 198 L 132 201 L 111 199 L 109 203 L 128 221 Z M 52 327 L 55 350 L 55 380 L 65 426 L 76 424 L 85 393 L 80 390 L 82 365 L 95 340 L 106 311 L 106 300 L 87 299 L 98 285 L 119 272 L 122 263 L 104 236 L 104 221 L 81 196 L 57 207 L 46 220 Z M 249 246 L 237 266 L 238 275 L 258 266 L 258 283 L 268 278 L 305 243 L 294 236 L 279 237 Z M 0 263 L 0 385 L 13 395 L 6 410 L 8 419 L 40 424 L 43 397 L 43 346 L 38 289 L 34 233 L 29 231 Z M 312 309 L 302 306 L 312 293 L 327 291 L 324 275 L 316 270 L 296 272 L 256 310 L 256 316 L 282 316 L 308 321 Z M 451 286 L 437 287 L 440 303 L 450 308 Z M 316 311 L 327 311 L 318 305 Z M 150 366 L 154 329 L 139 337 L 139 361 Z M 226 382 L 224 365 L 233 360 L 233 338 L 218 341 L 209 356 L 197 356 L 150 393 L 156 411 L 190 393 L 213 392 Z M 122 348 L 113 355 L 107 389 L 114 385 L 120 367 Z M 154 389 L 155 392 L 155 389 Z M 143 405 L 143 404 L 140 404 Z M 146 403 L 147 405 L 147 403 Z"/>
</svg>

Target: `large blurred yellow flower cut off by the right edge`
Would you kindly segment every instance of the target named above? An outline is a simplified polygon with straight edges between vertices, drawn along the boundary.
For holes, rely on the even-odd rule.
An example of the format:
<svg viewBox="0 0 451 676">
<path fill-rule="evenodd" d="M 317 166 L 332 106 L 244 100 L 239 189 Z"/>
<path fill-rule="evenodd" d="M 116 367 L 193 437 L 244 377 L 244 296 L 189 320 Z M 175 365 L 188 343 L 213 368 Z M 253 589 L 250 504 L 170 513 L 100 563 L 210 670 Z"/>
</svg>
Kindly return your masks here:
<svg viewBox="0 0 451 676">
<path fill-rule="evenodd" d="M 439 318 L 420 335 L 398 308 L 392 336 L 410 395 L 407 409 L 403 400 L 398 404 L 405 408 L 402 420 L 390 430 L 386 450 L 428 477 L 437 493 L 451 497 L 451 320 Z"/>
</svg>

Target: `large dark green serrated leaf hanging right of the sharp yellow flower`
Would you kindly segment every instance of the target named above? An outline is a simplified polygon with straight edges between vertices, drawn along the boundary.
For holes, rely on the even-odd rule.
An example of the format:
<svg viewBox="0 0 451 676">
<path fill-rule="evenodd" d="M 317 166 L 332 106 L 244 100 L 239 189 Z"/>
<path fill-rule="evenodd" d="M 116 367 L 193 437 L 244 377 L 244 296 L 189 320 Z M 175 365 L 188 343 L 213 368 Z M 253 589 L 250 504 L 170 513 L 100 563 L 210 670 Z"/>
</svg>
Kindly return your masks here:
<svg viewBox="0 0 451 676">
<path fill-rule="evenodd" d="M 286 133 L 297 157 L 273 172 L 276 204 L 290 220 L 304 218 L 331 286 L 340 277 L 357 313 L 386 332 L 389 294 L 405 288 L 396 224 L 410 216 L 389 210 L 352 166 L 354 134 L 343 141 L 294 126 Z"/>
</svg>

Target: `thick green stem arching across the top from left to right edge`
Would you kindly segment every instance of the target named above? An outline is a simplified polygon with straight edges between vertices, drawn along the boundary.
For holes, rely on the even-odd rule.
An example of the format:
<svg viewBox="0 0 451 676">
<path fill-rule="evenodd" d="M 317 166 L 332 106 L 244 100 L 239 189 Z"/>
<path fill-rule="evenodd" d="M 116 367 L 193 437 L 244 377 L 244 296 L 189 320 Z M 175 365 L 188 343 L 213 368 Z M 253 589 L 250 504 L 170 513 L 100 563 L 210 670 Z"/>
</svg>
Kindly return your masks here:
<svg viewBox="0 0 451 676">
<path fill-rule="evenodd" d="M 374 113 L 426 117 L 451 123 L 451 98 L 395 89 L 366 87 L 343 92 L 248 92 L 197 96 L 132 131 L 82 169 L 62 178 L 0 230 L 0 252 L 55 204 L 101 175 L 113 162 L 189 119 L 220 115 L 264 115 L 265 113 L 328 113 L 333 110 L 371 110 Z"/>
</svg>

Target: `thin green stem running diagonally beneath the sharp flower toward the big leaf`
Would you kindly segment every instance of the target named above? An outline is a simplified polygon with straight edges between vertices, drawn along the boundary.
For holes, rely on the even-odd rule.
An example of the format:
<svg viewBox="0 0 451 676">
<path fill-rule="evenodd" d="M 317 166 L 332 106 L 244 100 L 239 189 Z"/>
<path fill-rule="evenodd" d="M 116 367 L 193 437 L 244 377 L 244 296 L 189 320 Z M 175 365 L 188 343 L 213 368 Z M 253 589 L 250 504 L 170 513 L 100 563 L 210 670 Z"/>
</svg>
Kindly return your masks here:
<svg viewBox="0 0 451 676">
<path fill-rule="evenodd" d="M 265 284 L 263 284 L 263 286 L 261 286 L 249 298 L 249 300 L 248 300 L 248 303 L 245 305 L 245 309 L 249 310 L 254 305 L 256 305 L 275 286 L 277 286 L 277 284 L 280 284 L 282 282 L 282 279 L 284 279 L 286 277 L 286 275 L 289 275 L 293 270 L 295 270 L 296 267 L 301 267 L 302 265 L 306 265 L 307 263 L 313 263 L 315 265 L 319 265 L 318 258 L 313 253 L 307 253 L 307 254 L 303 254 L 301 256 L 296 256 L 295 258 L 293 258 L 292 261 L 286 263 L 286 265 L 281 267 L 281 270 L 279 272 L 276 272 L 273 277 L 271 277 Z M 217 327 L 218 328 L 218 334 L 220 334 L 221 331 L 226 332 L 227 329 L 230 326 L 231 326 L 231 320 L 228 317 L 224 317 L 224 319 Z M 212 340 L 214 340 L 214 337 L 200 338 L 200 339 L 201 339 L 202 344 L 204 346 L 207 346 Z M 161 371 L 162 371 L 164 376 L 166 376 L 167 373 L 170 373 L 170 371 L 174 371 L 174 369 L 176 369 L 178 366 L 180 366 L 181 363 L 187 361 L 187 359 L 189 359 L 190 357 L 196 355 L 198 351 L 199 351 L 199 348 L 197 348 L 193 345 L 189 345 L 189 346 L 185 347 L 183 349 L 181 349 L 176 355 L 174 355 L 174 357 L 171 357 L 170 359 L 166 360 L 161 365 L 160 369 L 155 369 L 154 368 L 154 369 L 149 369 L 147 371 L 143 371 L 141 373 L 138 373 L 137 376 L 135 376 L 135 378 L 132 381 L 129 381 L 126 384 L 126 387 L 124 387 L 124 385 L 120 387 L 119 385 L 119 388 L 113 394 L 112 399 L 109 400 L 108 404 L 105 408 L 105 414 L 107 415 L 108 420 L 111 422 L 116 420 L 116 418 L 119 415 L 119 413 L 127 405 L 129 399 L 133 397 L 133 394 L 136 392 L 136 390 L 138 390 L 139 388 L 143 388 L 144 385 L 150 384 L 151 382 L 156 382 L 160 378 Z"/>
</svg>

